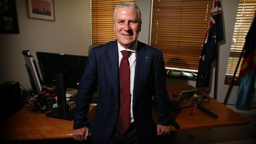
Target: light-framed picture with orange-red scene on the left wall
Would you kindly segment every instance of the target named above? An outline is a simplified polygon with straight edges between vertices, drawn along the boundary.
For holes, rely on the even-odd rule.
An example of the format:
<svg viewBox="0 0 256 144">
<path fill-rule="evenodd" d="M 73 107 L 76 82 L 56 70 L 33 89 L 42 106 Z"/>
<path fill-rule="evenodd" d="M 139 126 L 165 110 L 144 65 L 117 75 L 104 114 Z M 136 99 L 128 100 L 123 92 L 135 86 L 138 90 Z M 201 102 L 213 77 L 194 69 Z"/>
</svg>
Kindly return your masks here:
<svg viewBox="0 0 256 144">
<path fill-rule="evenodd" d="M 55 21 L 54 0 L 27 0 L 28 18 Z"/>
</svg>

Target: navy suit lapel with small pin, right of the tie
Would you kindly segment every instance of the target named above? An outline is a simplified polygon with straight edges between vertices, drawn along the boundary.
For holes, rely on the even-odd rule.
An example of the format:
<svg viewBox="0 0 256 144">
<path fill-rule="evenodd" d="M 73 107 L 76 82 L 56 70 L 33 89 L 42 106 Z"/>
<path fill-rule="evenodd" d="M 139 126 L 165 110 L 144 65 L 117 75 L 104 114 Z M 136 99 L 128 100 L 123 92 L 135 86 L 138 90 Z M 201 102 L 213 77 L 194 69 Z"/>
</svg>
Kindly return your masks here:
<svg viewBox="0 0 256 144">
<path fill-rule="evenodd" d="M 134 76 L 134 95 L 133 95 L 133 105 L 137 101 L 139 90 L 143 83 L 143 79 L 148 68 L 148 63 L 151 58 L 151 54 L 147 53 L 148 46 L 144 43 L 138 41 L 137 45 L 137 55 L 136 55 L 136 66 L 135 66 L 135 76 Z"/>
</svg>

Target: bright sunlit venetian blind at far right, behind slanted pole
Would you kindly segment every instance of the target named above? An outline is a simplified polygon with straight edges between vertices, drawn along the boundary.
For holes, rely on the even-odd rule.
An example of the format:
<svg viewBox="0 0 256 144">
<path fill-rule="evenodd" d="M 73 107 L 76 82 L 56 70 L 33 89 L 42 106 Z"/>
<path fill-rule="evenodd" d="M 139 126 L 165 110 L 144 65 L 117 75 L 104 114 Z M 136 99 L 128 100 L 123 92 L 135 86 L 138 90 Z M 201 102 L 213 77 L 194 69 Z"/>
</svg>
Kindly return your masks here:
<svg viewBox="0 0 256 144">
<path fill-rule="evenodd" d="M 254 17 L 256 9 L 256 0 L 240 0 L 237 15 L 236 23 L 234 27 L 234 33 L 232 38 L 232 44 L 230 48 L 230 56 L 228 58 L 228 66 L 226 70 L 225 83 L 228 84 L 231 82 L 232 76 L 234 75 L 239 56 L 242 52 L 243 45 L 245 44 L 245 37 L 249 31 L 250 25 L 252 23 L 252 18 Z M 239 68 L 236 73 L 236 78 L 238 78 L 240 66 L 243 59 L 241 59 Z"/>
</svg>

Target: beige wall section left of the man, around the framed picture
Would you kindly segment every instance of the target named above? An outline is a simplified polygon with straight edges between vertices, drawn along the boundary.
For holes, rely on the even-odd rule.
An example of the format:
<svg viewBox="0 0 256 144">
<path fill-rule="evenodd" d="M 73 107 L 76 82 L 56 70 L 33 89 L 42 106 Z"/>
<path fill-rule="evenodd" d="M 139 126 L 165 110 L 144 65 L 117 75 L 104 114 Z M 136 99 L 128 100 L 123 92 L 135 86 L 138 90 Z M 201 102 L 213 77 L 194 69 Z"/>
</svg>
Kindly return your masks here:
<svg viewBox="0 0 256 144">
<path fill-rule="evenodd" d="M 26 0 L 16 0 L 19 34 L 0 34 L 0 83 L 30 83 L 22 50 L 87 55 L 91 45 L 90 0 L 54 0 L 56 21 L 27 17 Z"/>
</svg>

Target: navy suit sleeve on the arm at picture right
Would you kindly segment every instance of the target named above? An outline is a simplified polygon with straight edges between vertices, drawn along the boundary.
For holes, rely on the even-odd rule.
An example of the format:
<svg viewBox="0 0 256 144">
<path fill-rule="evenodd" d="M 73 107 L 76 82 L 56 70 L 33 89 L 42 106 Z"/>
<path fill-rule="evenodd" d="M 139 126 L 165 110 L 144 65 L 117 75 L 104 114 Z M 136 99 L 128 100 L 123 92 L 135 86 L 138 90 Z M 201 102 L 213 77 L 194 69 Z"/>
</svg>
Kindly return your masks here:
<svg viewBox="0 0 256 144">
<path fill-rule="evenodd" d="M 158 124 L 169 126 L 171 125 L 170 99 L 166 90 L 166 71 L 162 52 L 158 57 L 154 78 L 154 98 L 158 109 Z"/>
</svg>

